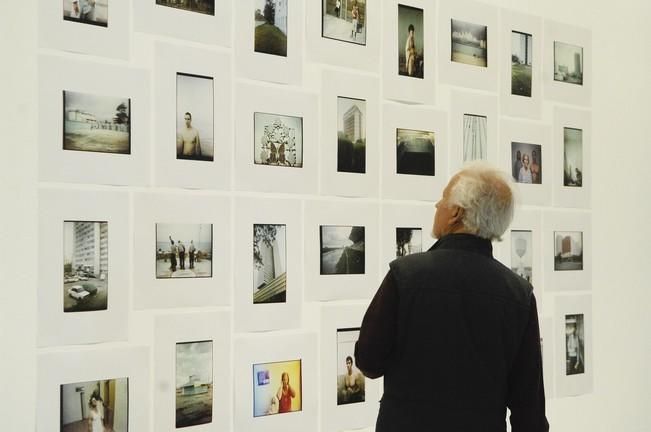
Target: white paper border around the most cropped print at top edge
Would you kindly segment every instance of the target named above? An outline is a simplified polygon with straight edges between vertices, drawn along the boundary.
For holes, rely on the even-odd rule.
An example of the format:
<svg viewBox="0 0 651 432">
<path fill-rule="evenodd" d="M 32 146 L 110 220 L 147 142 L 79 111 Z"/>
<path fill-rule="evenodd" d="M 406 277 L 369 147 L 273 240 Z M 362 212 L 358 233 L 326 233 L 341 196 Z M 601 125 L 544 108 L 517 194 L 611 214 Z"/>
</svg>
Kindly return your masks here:
<svg viewBox="0 0 651 432">
<path fill-rule="evenodd" d="M 137 1 L 136 3 L 143 2 Z M 65 21 L 63 19 L 63 0 L 38 0 L 39 46 L 127 60 L 131 56 L 130 4 L 129 0 L 110 0 L 108 3 L 108 25 L 102 27 Z M 7 13 L 9 13 L 8 10 Z M 111 74 L 106 74 L 106 76 L 109 75 Z M 105 79 L 106 77 L 103 76 L 102 81 Z"/>
</svg>

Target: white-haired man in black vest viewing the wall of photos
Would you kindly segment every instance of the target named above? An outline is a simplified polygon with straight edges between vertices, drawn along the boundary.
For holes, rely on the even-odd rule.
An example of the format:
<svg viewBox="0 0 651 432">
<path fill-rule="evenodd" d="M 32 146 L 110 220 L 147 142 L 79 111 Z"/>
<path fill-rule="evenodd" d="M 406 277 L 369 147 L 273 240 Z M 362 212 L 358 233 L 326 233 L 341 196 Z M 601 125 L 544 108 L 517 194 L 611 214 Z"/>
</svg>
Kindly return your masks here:
<svg viewBox="0 0 651 432">
<path fill-rule="evenodd" d="M 384 375 L 377 432 L 548 431 L 531 285 L 493 258 L 513 217 L 509 180 L 485 163 L 456 174 L 436 203 L 427 252 L 390 265 L 355 347 Z"/>
</svg>

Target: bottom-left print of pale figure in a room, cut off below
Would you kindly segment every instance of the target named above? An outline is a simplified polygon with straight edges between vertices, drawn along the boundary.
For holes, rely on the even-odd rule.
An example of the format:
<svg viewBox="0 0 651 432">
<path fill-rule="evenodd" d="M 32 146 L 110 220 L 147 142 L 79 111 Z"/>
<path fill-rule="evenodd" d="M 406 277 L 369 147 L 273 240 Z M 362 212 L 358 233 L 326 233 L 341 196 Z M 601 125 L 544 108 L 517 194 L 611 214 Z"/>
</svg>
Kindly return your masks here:
<svg viewBox="0 0 651 432">
<path fill-rule="evenodd" d="M 61 432 L 128 432 L 129 379 L 63 384 Z"/>
</svg>

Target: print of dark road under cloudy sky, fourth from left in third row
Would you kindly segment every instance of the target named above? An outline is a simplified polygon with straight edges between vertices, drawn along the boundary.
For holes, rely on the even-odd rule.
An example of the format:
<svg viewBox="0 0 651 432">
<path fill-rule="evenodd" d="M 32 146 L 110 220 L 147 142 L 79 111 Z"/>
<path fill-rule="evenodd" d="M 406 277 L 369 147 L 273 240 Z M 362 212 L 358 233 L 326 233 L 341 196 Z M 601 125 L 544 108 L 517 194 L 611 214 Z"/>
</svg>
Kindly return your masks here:
<svg viewBox="0 0 651 432">
<path fill-rule="evenodd" d="M 321 274 L 364 274 L 364 227 L 320 227 Z"/>
</svg>

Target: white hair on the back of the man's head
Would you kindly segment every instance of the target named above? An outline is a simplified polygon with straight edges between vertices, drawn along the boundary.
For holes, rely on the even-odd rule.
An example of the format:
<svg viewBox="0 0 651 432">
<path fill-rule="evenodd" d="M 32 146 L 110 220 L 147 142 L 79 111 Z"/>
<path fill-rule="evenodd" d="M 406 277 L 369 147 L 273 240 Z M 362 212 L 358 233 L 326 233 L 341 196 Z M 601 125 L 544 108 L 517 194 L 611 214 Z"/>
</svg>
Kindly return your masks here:
<svg viewBox="0 0 651 432">
<path fill-rule="evenodd" d="M 509 176 L 487 162 L 475 161 L 464 165 L 456 177 L 449 204 L 464 209 L 464 226 L 479 237 L 501 240 L 515 207 Z"/>
</svg>

